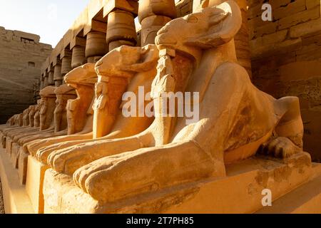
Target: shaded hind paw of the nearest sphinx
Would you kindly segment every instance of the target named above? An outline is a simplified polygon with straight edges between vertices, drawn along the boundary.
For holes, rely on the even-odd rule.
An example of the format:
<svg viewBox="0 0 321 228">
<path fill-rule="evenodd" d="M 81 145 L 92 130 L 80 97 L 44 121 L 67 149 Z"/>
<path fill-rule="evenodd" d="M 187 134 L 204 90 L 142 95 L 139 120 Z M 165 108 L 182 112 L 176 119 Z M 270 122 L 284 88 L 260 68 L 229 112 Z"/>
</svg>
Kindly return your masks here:
<svg viewBox="0 0 321 228">
<path fill-rule="evenodd" d="M 302 149 L 297 147 L 290 139 L 278 137 L 264 143 L 260 147 L 260 153 L 272 155 L 274 157 L 287 158 L 301 152 Z"/>
</svg>

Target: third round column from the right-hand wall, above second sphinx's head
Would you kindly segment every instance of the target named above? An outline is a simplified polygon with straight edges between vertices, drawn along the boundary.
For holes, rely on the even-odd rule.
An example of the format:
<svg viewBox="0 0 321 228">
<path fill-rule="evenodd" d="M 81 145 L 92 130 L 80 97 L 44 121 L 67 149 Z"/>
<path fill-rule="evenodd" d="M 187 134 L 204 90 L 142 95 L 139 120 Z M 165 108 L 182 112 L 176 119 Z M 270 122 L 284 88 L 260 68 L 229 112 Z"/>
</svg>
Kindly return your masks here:
<svg viewBox="0 0 321 228">
<path fill-rule="evenodd" d="M 122 45 L 136 46 L 137 33 L 131 12 L 116 9 L 108 14 L 106 41 L 109 51 Z"/>
</svg>

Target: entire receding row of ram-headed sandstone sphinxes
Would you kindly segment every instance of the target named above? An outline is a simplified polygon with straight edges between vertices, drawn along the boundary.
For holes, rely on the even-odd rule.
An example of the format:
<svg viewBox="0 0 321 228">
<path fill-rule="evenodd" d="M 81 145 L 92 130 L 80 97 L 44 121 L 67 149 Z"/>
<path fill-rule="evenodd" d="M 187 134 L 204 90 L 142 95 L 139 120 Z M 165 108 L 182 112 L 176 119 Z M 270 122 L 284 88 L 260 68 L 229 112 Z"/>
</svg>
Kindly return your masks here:
<svg viewBox="0 0 321 228">
<path fill-rule="evenodd" d="M 263 93 L 237 63 L 241 23 L 235 1 L 209 1 L 169 21 L 156 44 L 120 46 L 70 71 L 65 85 L 41 90 L 37 105 L 0 128 L 21 183 L 31 156 L 103 204 L 224 177 L 226 164 L 257 152 L 280 159 L 302 152 L 298 98 Z M 199 120 L 125 117 L 123 94 L 138 95 L 140 86 L 160 110 L 162 92 L 198 92 Z"/>
</svg>

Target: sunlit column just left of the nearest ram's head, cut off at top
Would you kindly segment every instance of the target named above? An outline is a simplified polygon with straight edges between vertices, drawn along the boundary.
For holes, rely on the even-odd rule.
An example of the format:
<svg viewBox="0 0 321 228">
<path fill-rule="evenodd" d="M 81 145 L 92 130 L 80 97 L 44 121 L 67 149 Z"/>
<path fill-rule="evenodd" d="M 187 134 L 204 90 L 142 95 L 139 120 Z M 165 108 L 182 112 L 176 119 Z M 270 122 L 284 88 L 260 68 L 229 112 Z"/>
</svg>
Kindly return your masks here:
<svg viewBox="0 0 321 228">
<path fill-rule="evenodd" d="M 141 23 L 141 46 L 154 44 L 157 32 L 176 16 L 175 0 L 139 1 L 138 19 Z"/>
</svg>

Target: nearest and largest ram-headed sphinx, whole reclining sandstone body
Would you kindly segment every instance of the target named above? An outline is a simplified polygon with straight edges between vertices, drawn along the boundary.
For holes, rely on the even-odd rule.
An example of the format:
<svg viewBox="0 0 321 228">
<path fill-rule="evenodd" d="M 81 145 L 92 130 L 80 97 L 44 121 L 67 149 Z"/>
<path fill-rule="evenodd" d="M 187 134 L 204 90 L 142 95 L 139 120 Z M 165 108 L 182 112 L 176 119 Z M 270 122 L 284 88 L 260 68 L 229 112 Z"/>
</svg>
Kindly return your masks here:
<svg viewBox="0 0 321 228">
<path fill-rule="evenodd" d="M 227 1 L 170 21 L 158 32 L 154 107 L 165 108 L 161 92 L 199 92 L 198 122 L 156 116 L 138 135 L 51 152 L 52 169 L 73 175 L 98 202 L 115 202 L 224 177 L 226 163 L 253 156 L 260 147 L 276 157 L 302 151 L 298 99 L 263 93 L 236 63 L 233 37 L 240 24 L 238 5 Z"/>
</svg>

